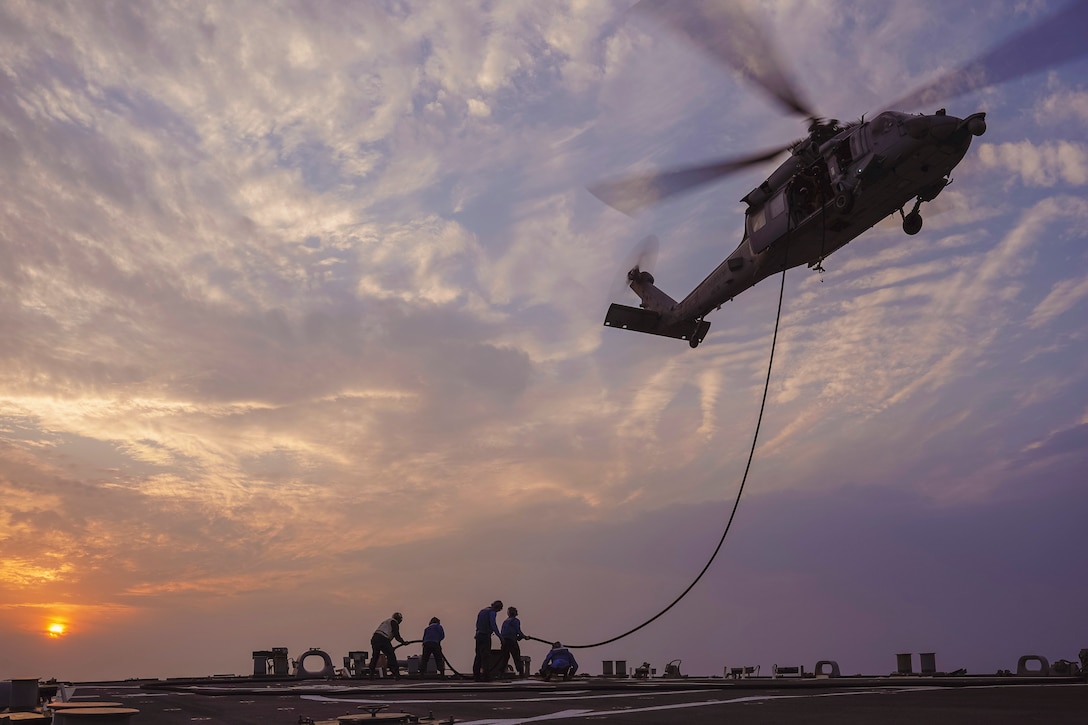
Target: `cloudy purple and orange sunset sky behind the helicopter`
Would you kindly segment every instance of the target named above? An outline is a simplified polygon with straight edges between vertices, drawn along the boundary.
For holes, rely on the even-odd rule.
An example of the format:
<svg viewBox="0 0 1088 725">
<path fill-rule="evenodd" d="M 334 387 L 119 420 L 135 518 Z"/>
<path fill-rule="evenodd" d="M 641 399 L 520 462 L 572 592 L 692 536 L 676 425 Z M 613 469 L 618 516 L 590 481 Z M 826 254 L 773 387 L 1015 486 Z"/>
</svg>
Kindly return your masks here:
<svg viewBox="0 0 1088 725">
<path fill-rule="evenodd" d="M 586 186 L 805 121 L 631 4 L 0 2 L 0 678 L 338 665 L 394 611 L 467 672 L 496 598 L 592 643 L 692 581 L 780 278 L 694 351 L 602 323 L 639 239 L 681 297 L 775 164 L 633 218 Z M 850 121 L 1062 7 L 755 12 Z M 1088 647 L 1085 77 L 943 101 L 989 130 L 922 232 L 787 274 L 725 545 L 583 671 Z"/>
</svg>

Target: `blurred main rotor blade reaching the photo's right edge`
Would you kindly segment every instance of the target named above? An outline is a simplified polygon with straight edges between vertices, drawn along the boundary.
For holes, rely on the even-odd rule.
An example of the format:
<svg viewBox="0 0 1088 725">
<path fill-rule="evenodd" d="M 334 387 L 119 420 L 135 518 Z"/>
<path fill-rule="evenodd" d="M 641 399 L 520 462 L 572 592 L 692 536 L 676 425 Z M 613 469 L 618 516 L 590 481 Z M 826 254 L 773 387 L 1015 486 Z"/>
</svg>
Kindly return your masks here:
<svg viewBox="0 0 1088 725">
<path fill-rule="evenodd" d="M 907 111 L 938 103 L 1083 56 L 1088 56 L 1088 2 L 1073 0 L 1064 10 L 1017 33 L 888 108 Z"/>
</svg>

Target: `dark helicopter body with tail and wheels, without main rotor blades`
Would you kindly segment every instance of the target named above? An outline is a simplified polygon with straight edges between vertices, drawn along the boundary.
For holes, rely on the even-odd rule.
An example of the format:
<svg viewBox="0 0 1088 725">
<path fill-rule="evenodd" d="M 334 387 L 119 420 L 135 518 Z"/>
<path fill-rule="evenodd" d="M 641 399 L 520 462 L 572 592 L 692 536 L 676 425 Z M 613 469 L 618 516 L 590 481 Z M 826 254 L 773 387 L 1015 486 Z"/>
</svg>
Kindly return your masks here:
<svg viewBox="0 0 1088 725">
<path fill-rule="evenodd" d="M 702 342 L 703 318 L 759 281 L 793 267 L 818 266 L 889 214 L 922 228 L 918 207 L 950 183 L 972 136 L 986 132 L 986 114 L 966 119 L 885 111 L 870 121 L 816 124 L 790 158 L 744 196 L 744 236 L 682 300 L 654 286 L 651 274 L 629 271 L 642 310 L 613 305 L 605 324 Z M 912 200 L 914 208 L 904 213 Z M 618 309 L 617 309 L 618 308 Z M 650 314 L 647 316 L 647 312 Z"/>
</svg>

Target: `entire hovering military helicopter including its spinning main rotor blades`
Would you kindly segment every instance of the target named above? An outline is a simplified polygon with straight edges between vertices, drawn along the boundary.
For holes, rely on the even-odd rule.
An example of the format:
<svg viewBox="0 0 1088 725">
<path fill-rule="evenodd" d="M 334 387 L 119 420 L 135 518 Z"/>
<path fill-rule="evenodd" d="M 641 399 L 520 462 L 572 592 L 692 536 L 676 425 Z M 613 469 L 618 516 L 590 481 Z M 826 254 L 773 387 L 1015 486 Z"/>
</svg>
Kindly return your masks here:
<svg viewBox="0 0 1088 725">
<path fill-rule="evenodd" d="M 889 110 L 840 123 L 811 110 L 755 15 L 742 4 L 642 0 L 630 12 L 671 29 L 738 71 L 788 112 L 808 119 L 808 135 L 786 146 L 590 187 L 605 204 L 633 216 L 790 153 L 741 199 L 747 206 L 740 245 L 683 299 L 677 302 L 658 288 L 641 261 L 627 271 L 627 286 L 641 304 L 613 303 L 604 324 L 685 340 L 692 348 L 709 331 L 706 315 L 762 280 L 801 265 L 823 271 L 830 254 L 897 212 L 906 234 L 922 230 L 920 206 L 952 183 L 952 171 L 972 139 L 986 133 L 986 113 L 956 118 L 943 108 L 930 114 L 890 109 L 936 103 L 1088 54 L 1088 3 L 1079 0 L 904 96 Z M 910 211 L 904 211 L 908 205 Z"/>
</svg>

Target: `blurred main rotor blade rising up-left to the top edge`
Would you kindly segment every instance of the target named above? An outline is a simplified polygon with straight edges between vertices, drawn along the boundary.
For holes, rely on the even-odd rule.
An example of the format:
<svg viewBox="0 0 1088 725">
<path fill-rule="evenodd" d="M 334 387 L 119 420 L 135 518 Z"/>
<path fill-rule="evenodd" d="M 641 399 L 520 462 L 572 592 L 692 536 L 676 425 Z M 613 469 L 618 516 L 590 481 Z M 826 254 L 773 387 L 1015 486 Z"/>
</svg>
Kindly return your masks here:
<svg viewBox="0 0 1088 725">
<path fill-rule="evenodd" d="M 743 2 L 642 0 L 631 10 L 663 23 L 739 71 L 790 112 L 807 118 L 816 115 L 793 88 L 774 44 Z"/>
</svg>

